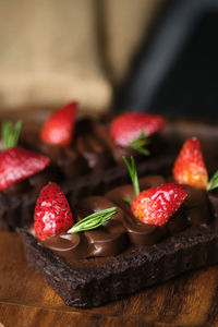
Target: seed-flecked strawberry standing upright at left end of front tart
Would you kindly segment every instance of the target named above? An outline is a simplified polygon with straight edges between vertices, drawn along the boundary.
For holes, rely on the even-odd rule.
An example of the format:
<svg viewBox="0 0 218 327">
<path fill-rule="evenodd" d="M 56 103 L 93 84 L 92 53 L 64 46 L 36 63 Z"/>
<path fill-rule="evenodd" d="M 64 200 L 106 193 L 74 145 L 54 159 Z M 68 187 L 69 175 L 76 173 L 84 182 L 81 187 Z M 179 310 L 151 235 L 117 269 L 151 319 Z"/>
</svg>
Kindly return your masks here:
<svg viewBox="0 0 218 327">
<path fill-rule="evenodd" d="M 44 241 L 73 226 L 72 213 L 65 195 L 56 183 L 46 185 L 37 199 L 34 213 L 34 228 Z"/>
</svg>

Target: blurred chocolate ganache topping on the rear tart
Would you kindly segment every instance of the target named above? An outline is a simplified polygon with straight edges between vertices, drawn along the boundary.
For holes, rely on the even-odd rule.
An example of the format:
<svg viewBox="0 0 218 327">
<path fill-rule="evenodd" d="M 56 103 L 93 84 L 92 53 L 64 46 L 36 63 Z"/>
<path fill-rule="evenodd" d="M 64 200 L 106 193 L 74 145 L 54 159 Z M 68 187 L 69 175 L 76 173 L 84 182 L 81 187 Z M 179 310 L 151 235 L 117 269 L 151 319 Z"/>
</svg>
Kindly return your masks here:
<svg viewBox="0 0 218 327">
<path fill-rule="evenodd" d="M 133 155 L 136 162 L 149 162 L 156 156 L 171 154 L 160 132 L 149 136 L 147 148 L 150 150 L 150 156 L 148 157 L 134 149 L 116 145 L 110 137 L 111 120 L 110 116 L 77 119 L 72 144 L 65 147 L 43 143 L 39 138 L 40 128 L 35 132 L 24 133 L 21 142 L 24 147 L 48 156 L 64 180 L 75 180 L 111 167 L 124 166 L 122 156 Z"/>
</svg>

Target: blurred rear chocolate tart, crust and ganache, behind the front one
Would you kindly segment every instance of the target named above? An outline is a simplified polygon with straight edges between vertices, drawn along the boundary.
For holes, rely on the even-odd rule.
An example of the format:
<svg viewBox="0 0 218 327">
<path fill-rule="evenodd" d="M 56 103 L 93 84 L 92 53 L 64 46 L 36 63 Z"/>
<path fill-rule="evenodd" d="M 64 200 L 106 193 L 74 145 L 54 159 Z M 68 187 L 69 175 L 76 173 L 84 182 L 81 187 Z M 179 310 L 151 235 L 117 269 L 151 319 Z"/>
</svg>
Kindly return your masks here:
<svg viewBox="0 0 218 327">
<path fill-rule="evenodd" d="M 76 122 L 74 143 L 70 147 L 43 144 L 40 125 L 27 124 L 21 135 L 21 145 L 44 153 L 51 165 L 40 173 L 0 192 L 0 228 L 14 230 L 32 222 L 33 209 L 40 189 L 48 181 L 58 182 L 71 202 L 88 194 L 100 194 L 113 185 L 128 182 L 122 155 L 136 152 L 114 146 L 109 137 L 111 118 L 82 118 Z M 170 147 L 164 146 L 160 135 L 152 136 L 149 157 L 136 155 L 140 175 L 166 174 L 173 161 Z"/>
</svg>

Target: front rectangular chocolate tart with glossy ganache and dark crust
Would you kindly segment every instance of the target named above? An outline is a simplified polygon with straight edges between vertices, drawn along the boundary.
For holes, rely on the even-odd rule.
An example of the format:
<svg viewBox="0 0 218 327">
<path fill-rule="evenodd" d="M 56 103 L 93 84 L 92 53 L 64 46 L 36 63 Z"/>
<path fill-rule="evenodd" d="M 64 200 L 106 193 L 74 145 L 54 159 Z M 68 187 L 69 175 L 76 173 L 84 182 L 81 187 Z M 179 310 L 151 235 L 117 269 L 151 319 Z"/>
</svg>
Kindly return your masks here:
<svg viewBox="0 0 218 327">
<path fill-rule="evenodd" d="M 141 189 L 160 181 L 162 178 L 157 175 L 141 179 Z M 35 238 L 33 229 L 19 229 L 27 262 L 65 304 L 77 307 L 98 306 L 184 271 L 216 264 L 217 194 L 213 193 L 211 201 L 206 192 L 191 186 L 187 193 L 185 203 L 161 228 L 133 220 L 122 201 L 123 195 L 133 197 L 131 185 L 82 198 L 75 205 L 75 217 L 111 203 L 122 217 L 114 216 L 97 230 L 73 237 L 62 233 L 44 242 Z"/>
</svg>

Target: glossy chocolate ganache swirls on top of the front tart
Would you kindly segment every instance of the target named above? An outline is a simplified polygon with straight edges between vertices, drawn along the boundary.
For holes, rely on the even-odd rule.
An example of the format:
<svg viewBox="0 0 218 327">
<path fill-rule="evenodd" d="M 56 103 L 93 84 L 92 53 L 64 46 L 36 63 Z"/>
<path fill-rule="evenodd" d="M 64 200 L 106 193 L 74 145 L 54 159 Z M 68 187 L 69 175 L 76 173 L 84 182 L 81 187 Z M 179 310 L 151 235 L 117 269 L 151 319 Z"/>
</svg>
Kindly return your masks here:
<svg viewBox="0 0 218 327">
<path fill-rule="evenodd" d="M 141 190 L 165 183 L 160 175 L 140 180 Z M 133 199 L 132 185 L 122 185 L 105 194 L 82 198 L 74 208 L 74 220 L 78 221 L 92 213 L 117 206 L 119 213 L 104 226 L 89 231 L 52 237 L 41 243 L 66 259 L 107 257 L 118 255 L 133 246 L 154 245 L 164 238 L 177 237 L 196 226 L 205 227 L 211 217 L 206 192 L 186 186 L 189 196 L 180 209 L 164 227 L 145 225 L 135 219 L 123 197 Z"/>
</svg>

